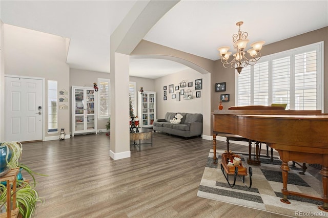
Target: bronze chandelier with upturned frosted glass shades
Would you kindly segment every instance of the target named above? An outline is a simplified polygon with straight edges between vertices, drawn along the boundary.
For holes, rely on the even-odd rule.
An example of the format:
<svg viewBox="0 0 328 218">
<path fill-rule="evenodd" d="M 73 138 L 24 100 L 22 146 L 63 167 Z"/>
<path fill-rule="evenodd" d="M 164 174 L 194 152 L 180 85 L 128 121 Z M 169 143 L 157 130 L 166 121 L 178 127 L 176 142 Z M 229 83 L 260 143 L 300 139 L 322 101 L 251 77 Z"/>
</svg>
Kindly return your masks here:
<svg viewBox="0 0 328 218">
<path fill-rule="evenodd" d="M 217 50 L 220 52 L 221 55 L 221 62 L 223 63 L 224 68 L 235 68 L 238 73 L 241 72 L 241 70 L 244 67 L 247 67 L 248 65 L 254 65 L 260 58 L 261 53 L 260 50 L 262 49 L 263 44 L 265 41 L 256 41 L 251 44 L 252 49 L 249 49 L 247 52 L 250 54 L 251 57 L 245 56 L 244 49 L 247 47 L 247 43 L 250 41 L 247 39 L 248 33 L 240 31 L 240 26 L 243 24 L 243 21 L 239 21 L 236 25 L 238 28 L 238 33 L 233 34 L 232 41 L 234 42 L 234 49 L 236 49 L 236 54 L 234 54 L 233 60 L 230 62 L 229 56 L 232 54 L 229 52 L 230 47 L 229 46 L 223 46 L 218 48 Z"/>
</svg>

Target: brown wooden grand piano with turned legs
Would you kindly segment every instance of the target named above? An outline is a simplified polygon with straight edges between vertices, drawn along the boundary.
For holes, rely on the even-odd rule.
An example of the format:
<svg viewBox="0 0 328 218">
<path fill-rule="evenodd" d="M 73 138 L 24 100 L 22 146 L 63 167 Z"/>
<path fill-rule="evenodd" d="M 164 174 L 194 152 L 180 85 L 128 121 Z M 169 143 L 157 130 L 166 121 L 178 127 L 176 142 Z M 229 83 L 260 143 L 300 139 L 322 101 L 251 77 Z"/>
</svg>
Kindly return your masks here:
<svg viewBox="0 0 328 218">
<path fill-rule="evenodd" d="M 296 195 L 322 201 L 318 208 L 328 211 L 328 115 L 321 111 L 292 110 L 222 110 L 212 115 L 214 162 L 218 134 L 265 142 L 278 151 L 282 160 L 281 202 L 290 204 L 288 195 Z M 287 189 L 289 161 L 322 165 L 323 198 Z"/>
</svg>

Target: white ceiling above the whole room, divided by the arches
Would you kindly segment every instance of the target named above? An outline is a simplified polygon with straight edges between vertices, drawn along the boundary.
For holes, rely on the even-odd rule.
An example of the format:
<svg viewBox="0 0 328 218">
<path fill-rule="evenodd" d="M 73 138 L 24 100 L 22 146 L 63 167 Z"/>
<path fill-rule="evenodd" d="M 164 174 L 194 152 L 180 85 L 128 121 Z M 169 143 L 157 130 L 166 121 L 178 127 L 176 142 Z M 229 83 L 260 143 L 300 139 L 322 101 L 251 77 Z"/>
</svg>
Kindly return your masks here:
<svg viewBox="0 0 328 218">
<path fill-rule="evenodd" d="M 109 37 L 136 1 L 3 1 L 3 23 L 70 38 L 71 68 L 109 72 Z M 145 40 L 217 60 L 232 47 L 237 21 L 250 42 L 266 45 L 328 26 L 328 1 L 181 1 Z M 157 78 L 185 70 L 161 59 L 131 58 L 130 75 Z"/>
</svg>

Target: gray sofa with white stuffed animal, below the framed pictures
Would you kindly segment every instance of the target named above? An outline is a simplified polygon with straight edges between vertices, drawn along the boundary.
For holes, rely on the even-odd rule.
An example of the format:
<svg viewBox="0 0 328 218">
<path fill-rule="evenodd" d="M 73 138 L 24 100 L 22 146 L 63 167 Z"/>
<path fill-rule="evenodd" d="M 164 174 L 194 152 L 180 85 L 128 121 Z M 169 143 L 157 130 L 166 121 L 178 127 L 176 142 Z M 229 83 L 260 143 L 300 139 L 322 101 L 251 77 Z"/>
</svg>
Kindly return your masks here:
<svg viewBox="0 0 328 218">
<path fill-rule="evenodd" d="M 176 114 L 181 114 L 183 118 L 179 124 L 170 123 Z M 203 132 L 203 116 L 201 114 L 190 113 L 172 113 L 168 112 L 165 119 L 157 119 L 153 123 L 154 132 L 160 131 L 162 133 L 172 134 L 182 137 L 201 136 Z"/>
</svg>

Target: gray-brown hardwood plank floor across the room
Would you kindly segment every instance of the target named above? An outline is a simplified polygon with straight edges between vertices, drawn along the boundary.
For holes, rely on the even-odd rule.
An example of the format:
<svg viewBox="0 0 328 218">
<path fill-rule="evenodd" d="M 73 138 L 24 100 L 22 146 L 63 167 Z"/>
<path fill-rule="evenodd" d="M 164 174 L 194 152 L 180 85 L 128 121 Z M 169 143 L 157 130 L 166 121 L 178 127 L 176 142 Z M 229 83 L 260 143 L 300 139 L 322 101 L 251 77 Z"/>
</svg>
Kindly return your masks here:
<svg viewBox="0 0 328 218">
<path fill-rule="evenodd" d="M 24 143 L 20 162 L 49 175 L 36 176 L 45 203 L 34 217 L 284 217 L 197 197 L 212 141 L 153 133 L 153 147 L 116 161 L 109 143 L 105 134 Z"/>
</svg>

